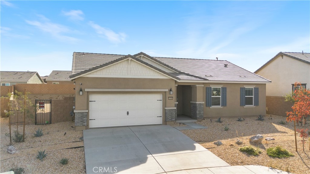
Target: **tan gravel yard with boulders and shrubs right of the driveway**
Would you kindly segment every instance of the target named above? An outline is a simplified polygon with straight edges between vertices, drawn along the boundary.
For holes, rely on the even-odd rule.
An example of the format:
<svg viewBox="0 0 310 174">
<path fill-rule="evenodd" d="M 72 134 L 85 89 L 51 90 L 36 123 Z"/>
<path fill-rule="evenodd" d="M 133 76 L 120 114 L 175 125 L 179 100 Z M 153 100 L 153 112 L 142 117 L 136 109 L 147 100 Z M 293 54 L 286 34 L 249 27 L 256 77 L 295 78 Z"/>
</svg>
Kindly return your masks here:
<svg viewBox="0 0 310 174">
<path fill-rule="evenodd" d="M 216 119 L 205 119 L 196 122 L 207 129 L 181 130 L 185 135 L 204 146 L 212 153 L 223 159 L 230 165 L 263 165 L 277 168 L 296 174 L 310 174 L 310 151 L 309 140 L 305 141 L 305 151 L 302 149 L 302 139 L 298 136 L 298 152 L 295 151 L 294 123 L 279 124 L 286 117 L 276 115 L 266 115 L 265 120 L 258 121 L 257 117 L 247 117 L 244 121 L 237 121 L 237 118 L 222 118 L 223 123 L 215 122 Z M 242 118 L 243 120 L 243 118 Z M 224 131 L 224 126 L 230 129 Z M 174 126 L 178 126 L 177 124 Z M 309 127 L 309 121 L 306 125 Z M 262 144 L 250 144 L 249 138 L 261 134 L 264 139 Z M 265 141 L 266 137 L 275 138 L 274 141 Z M 235 142 L 239 139 L 243 144 L 238 146 Z M 215 141 L 222 141 L 222 146 L 213 144 Z M 259 156 L 247 155 L 238 149 L 242 146 L 253 145 L 258 147 L 263 153 Z M 269 147 L 282 146 L 294 154 L 289 158 L 272 158 L 266 154 Z"/>
</svg>

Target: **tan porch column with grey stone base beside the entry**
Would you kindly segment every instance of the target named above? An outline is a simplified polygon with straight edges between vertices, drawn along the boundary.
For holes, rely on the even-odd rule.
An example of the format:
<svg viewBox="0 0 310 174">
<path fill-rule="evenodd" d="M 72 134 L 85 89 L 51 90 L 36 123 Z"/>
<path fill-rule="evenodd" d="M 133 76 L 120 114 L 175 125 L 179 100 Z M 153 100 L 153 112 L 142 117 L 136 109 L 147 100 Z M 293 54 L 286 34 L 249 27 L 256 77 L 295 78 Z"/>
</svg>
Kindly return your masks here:
<svg viewBox="0 0 310 174">
<path fill-rule="evenodd" d="M 191 101 L 191 117 L 196 120 L 203 119 L 203 85 L 191 85 L 192 101 Z"/>
</svg>

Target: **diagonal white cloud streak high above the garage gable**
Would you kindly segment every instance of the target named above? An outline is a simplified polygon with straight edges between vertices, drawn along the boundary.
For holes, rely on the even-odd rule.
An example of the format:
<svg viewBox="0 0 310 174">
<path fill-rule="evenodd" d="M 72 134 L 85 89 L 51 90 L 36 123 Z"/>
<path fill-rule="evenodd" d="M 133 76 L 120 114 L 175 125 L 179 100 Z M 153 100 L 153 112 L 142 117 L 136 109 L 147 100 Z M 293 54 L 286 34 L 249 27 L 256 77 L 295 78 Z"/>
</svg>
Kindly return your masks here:
<svg viewBox="0 0 310 174">
<path fill-rule="evenodd" d="M 92 21 L 89 21 L 88 24 L 96 30 L 100 37 L 105 37 L 112 43 L 122 43 L 125 42 L 126 34 L 125 33 L 115 33 L 113 30 L 109 28 L 101 27 L 98 24 L 95 24 Z"/>
</svg>

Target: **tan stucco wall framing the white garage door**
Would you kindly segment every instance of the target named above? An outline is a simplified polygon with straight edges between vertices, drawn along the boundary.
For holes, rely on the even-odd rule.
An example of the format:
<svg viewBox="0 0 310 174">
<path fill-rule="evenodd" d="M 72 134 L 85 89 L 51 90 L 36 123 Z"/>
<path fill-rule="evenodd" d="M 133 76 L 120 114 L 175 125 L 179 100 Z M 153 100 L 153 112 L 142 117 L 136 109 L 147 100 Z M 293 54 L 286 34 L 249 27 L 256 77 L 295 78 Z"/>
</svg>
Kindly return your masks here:
<svg viewBox="0 0 310 174">
<path fill-rule="evenodd" d="M 165 107 L 175 107 L 175 100 L 168 100 L 175 94 L 169 94 L 174 89 L 173 79 L 143 79 L 143 78 L 106 78 L 106 77 L 78 77 L 75 79 L 76 110 L 88 110 L 89 94 L 162 94 L 163 95 L 163 124 L 165 124 Z M 83 95 L 79 94 L 82 83 Z M 86 92 L 85 89 L 167 89 L 167 92 Z M 88 115 L 89 117 L 89 115 Z M 88 119 L 87 119 L 88 120 Z M 88 123 L 87 123 L 88 124 Z"/>
</svg>

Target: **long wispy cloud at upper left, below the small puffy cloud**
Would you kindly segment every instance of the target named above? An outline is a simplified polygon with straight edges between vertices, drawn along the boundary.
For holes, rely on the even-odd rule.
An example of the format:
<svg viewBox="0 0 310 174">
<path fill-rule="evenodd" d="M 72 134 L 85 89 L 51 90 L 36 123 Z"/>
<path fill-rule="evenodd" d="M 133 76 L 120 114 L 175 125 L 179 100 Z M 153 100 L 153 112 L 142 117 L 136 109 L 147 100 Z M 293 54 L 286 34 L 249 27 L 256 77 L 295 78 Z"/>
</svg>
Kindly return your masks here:
<svg viewBox="0 0 310 174">
<path fill-rule="evenodd" d="M 42 30 L 43 32 L 50 33 L 53 37 L 61 41 L 70 41 L 70 42 L 78 41 L 78 39 L 75 37 L 69 37 L 63 34 L 72 32 L 67 26 L 52 23 L 48 18 L 46 18 L 43 15 L 38 16 L 42 21 L 36 21 L 36 20 L 34 21 L 25 20 L 25 21 L 27 24 L 35 26 L 38 29 Z"/>
</svg>

